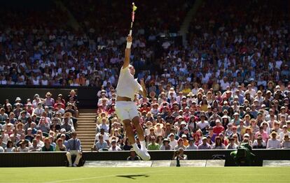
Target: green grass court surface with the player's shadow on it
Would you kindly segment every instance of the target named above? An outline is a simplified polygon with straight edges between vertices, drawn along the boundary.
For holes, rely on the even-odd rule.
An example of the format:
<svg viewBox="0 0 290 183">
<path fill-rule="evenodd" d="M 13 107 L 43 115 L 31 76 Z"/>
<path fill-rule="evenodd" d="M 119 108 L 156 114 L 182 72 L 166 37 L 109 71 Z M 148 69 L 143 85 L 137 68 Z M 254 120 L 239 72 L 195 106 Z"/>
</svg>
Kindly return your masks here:
<svg viewBox="0 0 290 183">
<path fill-rule="evenodd" d="M 289 171 L 290 167 L 0 168 L 0 182 L 290 182 Z"/>
</svg>

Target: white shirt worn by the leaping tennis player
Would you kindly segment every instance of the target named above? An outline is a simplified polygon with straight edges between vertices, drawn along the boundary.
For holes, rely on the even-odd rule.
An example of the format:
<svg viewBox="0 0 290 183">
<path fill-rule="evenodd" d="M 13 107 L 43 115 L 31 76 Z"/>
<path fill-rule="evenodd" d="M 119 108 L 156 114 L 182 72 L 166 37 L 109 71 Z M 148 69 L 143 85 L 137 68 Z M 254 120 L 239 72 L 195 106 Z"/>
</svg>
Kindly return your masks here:
<svg viewBox="0 0 290 183">
<path fill-rule="evenodd" d="M 116 94 L 118 96 L 125 96 L 131 98 L 134 101 L 134 94 L 139 93 L 139 90 L 143 91 L 141 85 L 134 79 L 134 76 L 130 73 L 129 66 L 120 69 L 120 76 L 118 85 L 116 87 Z"/>
</svg>

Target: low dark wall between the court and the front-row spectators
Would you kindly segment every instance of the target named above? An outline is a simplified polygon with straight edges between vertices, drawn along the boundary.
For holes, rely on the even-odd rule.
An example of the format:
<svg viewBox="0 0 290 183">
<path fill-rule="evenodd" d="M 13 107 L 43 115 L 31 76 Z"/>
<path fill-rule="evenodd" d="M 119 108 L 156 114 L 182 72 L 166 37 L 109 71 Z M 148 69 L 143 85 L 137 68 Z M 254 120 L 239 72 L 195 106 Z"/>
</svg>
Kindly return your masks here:
<svg viewBox="0 0 290 183">
<path fill-rule="evenodd" d="M 188 159 L 206 160 L 222 158 L 225 166 L 235 166 L 230 157 L 233 150 L 191 150 L 185 151 Z M 174 151 L 151 151 L 151 160 L 170 160 Z M 255 149 L 256 155 L 252 166 L 263 166 L 263 160 L 290 160 L 290 149 Z M 130 152 L 83 152 L 85 161 L 124 161 Z M 29 166 L 65 166 L 67 157 L 65 152 L 13 152 L 0 153 L 0 167 L 29 167 Z"/>
</svg>

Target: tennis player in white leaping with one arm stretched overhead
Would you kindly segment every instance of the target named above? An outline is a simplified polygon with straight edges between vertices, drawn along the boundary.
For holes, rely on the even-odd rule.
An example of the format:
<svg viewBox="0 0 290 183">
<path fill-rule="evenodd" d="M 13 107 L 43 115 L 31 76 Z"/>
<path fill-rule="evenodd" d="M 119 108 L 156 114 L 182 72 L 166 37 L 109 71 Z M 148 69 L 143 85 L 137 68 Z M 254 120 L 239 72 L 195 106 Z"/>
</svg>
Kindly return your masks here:
<svg viewBox="0 0 290 183">
<path fill-rule="evenodd" d="M 144 131 L 139 123 L 139 112 L 137 110 L 137 105 L 134 103 L 134 94 L 141 94 L 143 97 L 147 96 L 146 88 L 144 85 L 144 80 L 140 81 L 134 79 L 135 70 L 134 67 L 130 65 L 130 52 L 132 45 L 132 36 L 127 36 L 127 45 L 125 50 L 125 60 L 122 68 L 120 69 L 120 75 L 118 79 L 118 85 L 116 87 L 117 101 L 116 101 L 116 112 L 118 117 L 122 120 L 130 143 L 132 144 L 134 151 L 143 160 L 149 160 L 151 157 L 147 152 L 144 140 Z M 134 131 L 132 129 L 132 124 L 137 130 L 137 135 L 141 144 L 141 148 L 136 144 L 134 138 Z"/>
</svg>

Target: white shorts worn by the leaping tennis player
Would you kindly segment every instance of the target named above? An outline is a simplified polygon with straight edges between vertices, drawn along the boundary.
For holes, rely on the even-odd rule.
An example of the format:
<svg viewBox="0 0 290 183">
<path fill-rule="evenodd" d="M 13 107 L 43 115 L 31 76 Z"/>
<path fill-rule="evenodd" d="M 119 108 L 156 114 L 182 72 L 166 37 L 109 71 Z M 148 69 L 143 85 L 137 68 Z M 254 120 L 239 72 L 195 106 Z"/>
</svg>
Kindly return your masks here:
<svg viewBox="0 0 290 183">
<path fill-rule="evenodd" d="M 116 101 L 115 109 L 121 121 L 139 116 L 137 105 L 133 101 Z"/>
</svg>

